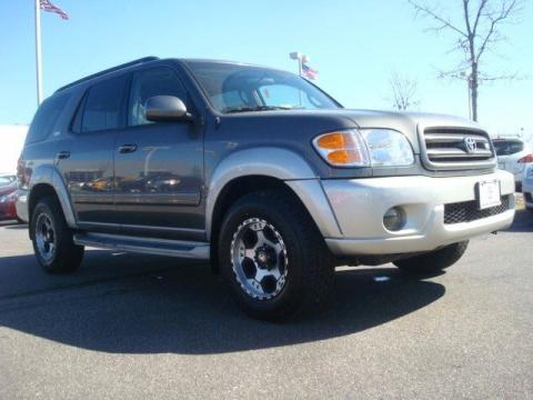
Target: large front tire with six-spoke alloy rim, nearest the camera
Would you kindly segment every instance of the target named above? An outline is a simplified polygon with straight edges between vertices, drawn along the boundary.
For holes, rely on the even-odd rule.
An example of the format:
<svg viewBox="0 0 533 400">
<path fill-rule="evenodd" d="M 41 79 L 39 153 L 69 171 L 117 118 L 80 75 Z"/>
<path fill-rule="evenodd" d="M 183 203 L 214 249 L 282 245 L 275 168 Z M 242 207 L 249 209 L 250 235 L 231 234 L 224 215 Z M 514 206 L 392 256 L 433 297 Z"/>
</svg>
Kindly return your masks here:
<svg viewBox="0 0 533 400">
<path fill-rule="evenodd" d="M 333 258 L 302 204 L 281 190 L 238 200 L 224 216 L 218 253 L 234 298 L 254 318 L 284 320 L 328 303 Z"/>
</svg>

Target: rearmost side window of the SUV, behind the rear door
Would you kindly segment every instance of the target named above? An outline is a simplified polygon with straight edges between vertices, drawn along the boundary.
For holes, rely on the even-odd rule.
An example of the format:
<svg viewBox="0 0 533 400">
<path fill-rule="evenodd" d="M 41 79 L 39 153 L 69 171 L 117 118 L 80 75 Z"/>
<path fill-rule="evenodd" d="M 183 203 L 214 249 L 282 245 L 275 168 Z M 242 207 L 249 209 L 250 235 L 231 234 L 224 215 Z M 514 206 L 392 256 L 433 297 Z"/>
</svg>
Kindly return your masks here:
<svg viewBox="0 0 533 400">
<path fill-rule="evenodd" d="M 44 100 L 39 110 L 37 110 L 33 121 L 31 121 L 26 139 L 27 143 L 38 142 L 48 138 L 69 98 L 70 94 L 59 94 Z"/>
</svg>

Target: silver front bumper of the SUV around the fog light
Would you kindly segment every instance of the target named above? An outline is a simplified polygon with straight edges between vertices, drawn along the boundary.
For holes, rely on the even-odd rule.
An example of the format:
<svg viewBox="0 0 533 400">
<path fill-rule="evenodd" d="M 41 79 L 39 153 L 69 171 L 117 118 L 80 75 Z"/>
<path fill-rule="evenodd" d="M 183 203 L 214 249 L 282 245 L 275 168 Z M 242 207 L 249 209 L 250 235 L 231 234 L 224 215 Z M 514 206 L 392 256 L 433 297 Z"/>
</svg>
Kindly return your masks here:
<svg viewBox="0 0 533 400">
<path fill-rule="evenodd" d="M 471 222 L 444 223 L 444 204 L 474 201 L 475 184 L 497 179 L 509 210 Z M 439 247 L 507 228 L 514 218 L 514 178 L 505 171 L 474 177 L 391 177 L 324 180 L 324 191 L 341 237 L 325 241 L 336 256 L 394 254 L 431 251 Z M 402 207 L 406 224 L 389 231 L 383 216 Z"/>
</svg>

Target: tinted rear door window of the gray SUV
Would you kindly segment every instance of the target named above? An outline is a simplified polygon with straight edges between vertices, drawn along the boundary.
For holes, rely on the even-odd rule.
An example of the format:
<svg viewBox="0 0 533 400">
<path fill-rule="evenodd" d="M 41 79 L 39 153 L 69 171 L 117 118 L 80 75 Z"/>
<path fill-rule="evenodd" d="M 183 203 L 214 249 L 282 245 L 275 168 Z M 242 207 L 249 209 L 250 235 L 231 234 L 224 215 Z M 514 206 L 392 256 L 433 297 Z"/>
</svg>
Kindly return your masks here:
<svg viewBox="0 0 533 400">
<path fill-rule="evenodd" d="M 93 132 L 122 126 L 127 76 L 99 82 L 89 89 L 81 116 L 81 131 Z"/>
</svg>

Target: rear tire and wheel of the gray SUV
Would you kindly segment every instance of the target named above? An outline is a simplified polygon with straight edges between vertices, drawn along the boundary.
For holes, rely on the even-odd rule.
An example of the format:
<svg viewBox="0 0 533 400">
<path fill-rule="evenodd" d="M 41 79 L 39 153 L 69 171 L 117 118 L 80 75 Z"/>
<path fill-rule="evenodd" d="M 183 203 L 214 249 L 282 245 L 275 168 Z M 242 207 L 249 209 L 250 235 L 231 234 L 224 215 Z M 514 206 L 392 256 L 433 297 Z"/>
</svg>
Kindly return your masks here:
<svg viewBox="0 0 533 400">
<path fill-rule="evenodd" d="M 50 273 L 72 272 L 81 264 L 84 248 L 73 242 L 59 202 L 47 197 L 33 210 L 31 238 L 37 261 Z"/>
</svg>

